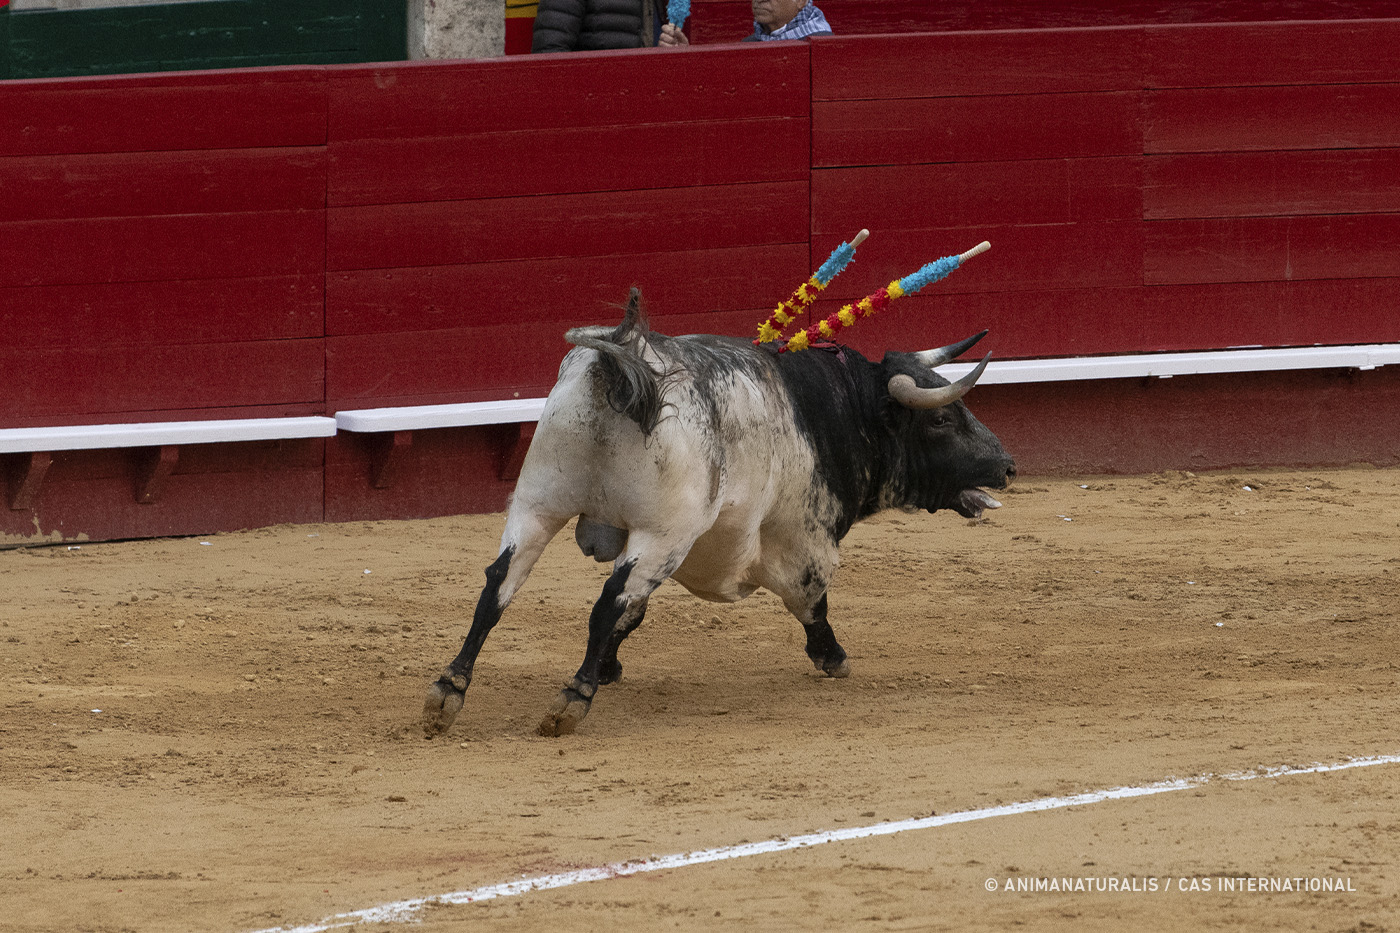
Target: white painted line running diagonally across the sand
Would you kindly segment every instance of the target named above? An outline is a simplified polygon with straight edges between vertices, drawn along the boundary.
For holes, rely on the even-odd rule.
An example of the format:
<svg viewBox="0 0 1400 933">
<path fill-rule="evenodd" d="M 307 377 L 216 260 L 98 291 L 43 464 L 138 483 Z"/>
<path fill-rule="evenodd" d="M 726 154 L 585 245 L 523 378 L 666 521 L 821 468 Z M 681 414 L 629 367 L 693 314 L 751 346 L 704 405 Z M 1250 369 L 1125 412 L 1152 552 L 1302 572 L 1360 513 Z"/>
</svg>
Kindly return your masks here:
<svg viewBox="0 0 1400 933">
<path fill-rule="evenodd" d="M 951 827 L 959 822 L 976 822 L 991 820 L 993 817 L 1014 817 L 1023 813 L 1040 813 L 1044 810 L 1064 810 L 1065 807 L 1082 807 L 1085 804 L 1103 803 L 1105 800 L 1127 800 L 1130 797 L 1152 797 L 1173 790 L 1190 790 L 1221 780 L 1271 780 L 1277 778 L 1294 778 L 1298 775 L 1319 775 L 1336 770 L 1350 770 L 1352 768 L 1373 768 L 1376 765 L 1400 765 L 1400 755 L 1375 755 L 1371 758 L 1351 758 L 1334 763 L 1315 763 L 1301 766 L 1256 768 L 1254 770 L 1236 770 L 1224 775 L 1197 775 L 1196 778 L 1170 778 L 1151 785 L 1137 787 L 1110 787 L 1107 790 L 1089 790 L 1082 794 L 1068 797 L 1042 797 L 1022 803 L 1001 804 L 998 807 L 983 807 L 981 810 L 963 810 L 917 820 L 900 820 L 896 822 L 881 822 L 872 827 L 850 827 L 847 829 L 829 829 L 826 832 L 812 832 L 802 836 L 787 836 L 767 839 L 763 842 L 746 842 L 736 846 L 721 846 L 718 849 L 700 849 L 668 856 L 652 856 L 636 862 L 616 862 L 613 864 L 598 866 L 595 869 L 578 869 L 575 871 L 560 871 L 557 874 L 540 874 L 519 881 L 504 881 L 490 884 L 470 891 L 452 891 L 448 894 L 434 894 L 423 898 L 393 901 L 379 906 L 336 913 L 315 923 L 304 926 L 274 926 L 255 933 L 326 933 L 357 923 L 413 923 L 423 919 L 420 915 L 430 906 L 449 906 L 461 904 L 476 904 L 477 901 L 494 901 L 496 898 L 511 898 L 531 891 L 549 891 L 552 888 L 567 888 L 585 881 L 605 881 L 608 878 L 626 878 L 645 871 L 662 871 L 665 869 L 680 869 L 689 864 L 704 864 L 707 862 L 727 862 L 729 859 L 746 859 L 771 852 L 788 852 L 791 849 L 805 849 L 820 846 L 827 842 L 843 842 L 846 839 L 868 839 L 871 836 L 889 836 L 911 829 L 932 829 L 935 827 Z"/>
</svg>

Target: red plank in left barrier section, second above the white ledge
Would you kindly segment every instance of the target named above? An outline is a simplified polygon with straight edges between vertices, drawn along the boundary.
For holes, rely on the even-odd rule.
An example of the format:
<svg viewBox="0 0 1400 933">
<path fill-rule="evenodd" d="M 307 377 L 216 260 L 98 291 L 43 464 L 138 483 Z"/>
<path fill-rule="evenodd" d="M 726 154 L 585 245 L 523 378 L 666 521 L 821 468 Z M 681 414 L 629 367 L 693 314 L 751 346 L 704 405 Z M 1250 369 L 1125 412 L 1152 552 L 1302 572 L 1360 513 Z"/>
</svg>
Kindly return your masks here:
<svg viewBox="0 0 1400 933">
<path fill-rule="evenodd" d="M 325 275 L 0 289 L 4 346 L 94 347 L 321 336 Z"/>
</svg>

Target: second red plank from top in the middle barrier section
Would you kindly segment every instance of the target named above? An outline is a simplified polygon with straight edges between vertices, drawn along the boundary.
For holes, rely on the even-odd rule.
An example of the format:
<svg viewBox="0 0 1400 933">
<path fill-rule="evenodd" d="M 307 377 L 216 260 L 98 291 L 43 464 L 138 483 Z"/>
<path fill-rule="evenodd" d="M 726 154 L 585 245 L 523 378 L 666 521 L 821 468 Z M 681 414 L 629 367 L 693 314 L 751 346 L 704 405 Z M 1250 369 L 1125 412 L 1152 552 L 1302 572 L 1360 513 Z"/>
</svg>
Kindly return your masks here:
<svg viewBox="0 0 1400 933">
<path fill-rule="evenodd" d="M 333 141 L 329 203 L 802 181 L 809 154 L 805 118 Z"/>
</svg>

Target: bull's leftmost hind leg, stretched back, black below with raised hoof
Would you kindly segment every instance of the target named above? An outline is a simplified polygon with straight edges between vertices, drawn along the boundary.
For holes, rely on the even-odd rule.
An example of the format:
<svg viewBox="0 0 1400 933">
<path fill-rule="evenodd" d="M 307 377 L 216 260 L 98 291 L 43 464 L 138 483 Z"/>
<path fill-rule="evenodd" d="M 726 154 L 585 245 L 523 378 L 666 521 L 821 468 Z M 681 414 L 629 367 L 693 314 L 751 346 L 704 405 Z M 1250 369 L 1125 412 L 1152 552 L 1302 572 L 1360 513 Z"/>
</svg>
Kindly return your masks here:
<svg viewBox="0 0 1400 933">
<path fill-rule="evenodd" d="M 462 642 L 462 650 L 428 686 L 428 695 L 423 700 L 423 731 L 428 738 L 445 733 L 452 726 L 466 699 L 466 688 L 472 684 L 472 668 L 476 665 L 482 644 L 486 643 L 486 636 L 501 619 L 505 607 L 511 604 L 535 567 L 535 562 L 539 560 L 539 555 L 543 553 L 545 545 L 564 527 L 564 521 L 567 518 L 539 516 L 518 520 L 514 514 L 507 521 L 501 553 L 486 569 L 486 587 L 476 601 L 476 614 L 472 616 L 466 640 Z"/>
</svg>

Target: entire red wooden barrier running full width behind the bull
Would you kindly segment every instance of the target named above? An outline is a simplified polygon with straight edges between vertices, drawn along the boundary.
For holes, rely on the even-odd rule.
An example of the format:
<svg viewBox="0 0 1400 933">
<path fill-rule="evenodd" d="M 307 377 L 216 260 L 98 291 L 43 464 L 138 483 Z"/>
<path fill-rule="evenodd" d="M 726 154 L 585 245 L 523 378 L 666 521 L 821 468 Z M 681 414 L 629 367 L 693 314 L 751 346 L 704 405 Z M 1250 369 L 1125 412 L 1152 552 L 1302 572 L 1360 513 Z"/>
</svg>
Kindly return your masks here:
<svg viewBox="0 0 1400 933">
<path fill-rule="evenodd" d="M 662 332 L 745 335 L 861 227 L 818 314 L 994 244 L 843 335 L 872 354 L 983 326 L 1000 357 L 1400 342 L 1400 20 L 822 6 L 906 25 L 0 83 L 0 427 L 540 395 L 563 331 L 616 319 L 629 286 Z M 746 3 L 694 11 L 697 41 L 720 14 L 748 31 Z M 1004 28 L 1173 17 L 1194 24 Z M 974 408 L 1028 472 L 1396 462 L 1397 391 L 1285 373 L 984 387 Z M 381 486 L 388 437 L 195 447 L 148 504 L 151 451 L 56 452 L 0 537 L 498 509 L 517 437 L 417 431 Z M 34 474 L 0 459 L 8 504 Z"/>
</svg>

